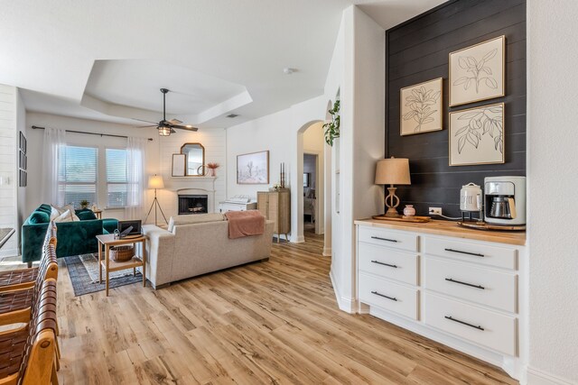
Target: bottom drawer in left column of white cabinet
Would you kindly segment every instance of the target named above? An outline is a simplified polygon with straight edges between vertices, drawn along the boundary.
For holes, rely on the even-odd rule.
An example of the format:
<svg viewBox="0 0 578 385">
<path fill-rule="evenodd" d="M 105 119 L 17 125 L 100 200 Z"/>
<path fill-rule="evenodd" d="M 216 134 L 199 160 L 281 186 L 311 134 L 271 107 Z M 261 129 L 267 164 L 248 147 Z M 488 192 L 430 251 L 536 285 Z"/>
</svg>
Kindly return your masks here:
<svg viewBox="0 0 578 385">
<path fill-rule="evenodd" d="M 359 273 L 359 300 L 417 319 L 418 290 Z"/>
</svg>

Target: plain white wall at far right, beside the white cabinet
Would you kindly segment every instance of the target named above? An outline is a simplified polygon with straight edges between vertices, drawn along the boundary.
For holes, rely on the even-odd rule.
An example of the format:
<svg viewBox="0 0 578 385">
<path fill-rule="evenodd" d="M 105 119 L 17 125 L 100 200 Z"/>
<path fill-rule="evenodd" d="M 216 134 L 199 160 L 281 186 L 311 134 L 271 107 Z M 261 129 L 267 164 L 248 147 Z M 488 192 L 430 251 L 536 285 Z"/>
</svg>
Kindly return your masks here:
<svg viewBox="0 0 578 385">
<path fill-rule="evenodd" d="M 576 20 L 574 0 L 527 3 L 528 383 L 536 384 L 578 383 Z"/>
</svg>

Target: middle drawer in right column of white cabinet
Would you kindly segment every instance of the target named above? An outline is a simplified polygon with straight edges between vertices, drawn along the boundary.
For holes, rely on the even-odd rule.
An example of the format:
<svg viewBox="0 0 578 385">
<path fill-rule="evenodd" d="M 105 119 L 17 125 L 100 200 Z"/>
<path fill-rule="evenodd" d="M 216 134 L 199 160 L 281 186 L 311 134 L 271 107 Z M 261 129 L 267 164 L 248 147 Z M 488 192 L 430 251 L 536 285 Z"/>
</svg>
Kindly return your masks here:
<svg viewBox="0 0 578 385">
<path fill-rule="evenodd" d="M 424 288 L 512 313 L 517 312 L 515 274 L 426 257 Z"/>
</svg>

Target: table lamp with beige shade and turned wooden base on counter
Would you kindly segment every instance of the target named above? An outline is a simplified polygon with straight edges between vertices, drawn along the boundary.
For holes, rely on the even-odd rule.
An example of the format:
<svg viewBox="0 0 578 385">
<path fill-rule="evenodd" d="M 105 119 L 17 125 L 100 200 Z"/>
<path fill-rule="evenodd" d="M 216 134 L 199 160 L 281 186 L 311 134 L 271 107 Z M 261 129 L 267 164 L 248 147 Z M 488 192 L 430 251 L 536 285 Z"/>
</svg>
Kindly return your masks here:
<svg viewBox="0 0 578 385">
<path fill-rule="evenodd" d="M 399 198 L 396 196 L 394 185 L 411 185 L 409 178 L 409 160 L 406 158 L 382 159 L 378 161 L 376 168 L 376 185 L 389 185 L 385 201 L 387 206 L 387 217 L 400 217 L 396 207 L 399 206 Z"/>
</svg>

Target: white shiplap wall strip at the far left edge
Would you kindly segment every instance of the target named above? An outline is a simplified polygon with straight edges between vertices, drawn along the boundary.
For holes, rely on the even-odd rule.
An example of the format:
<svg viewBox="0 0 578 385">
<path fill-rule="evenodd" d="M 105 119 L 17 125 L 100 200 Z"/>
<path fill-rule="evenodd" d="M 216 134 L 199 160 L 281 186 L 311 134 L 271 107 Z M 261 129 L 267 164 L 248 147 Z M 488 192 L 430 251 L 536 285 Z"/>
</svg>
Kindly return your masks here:
<svg viewBox="0 0 578 385">
<path fill-rule="evenodd" d="M 0 250 L 0 256 L 18 254 L 17 98 L 16 87 L 0 85 L 0 176 L 8 180 L 0 186 L 0 227 L 16 229 L 16 234 Z"/>
</svg>

